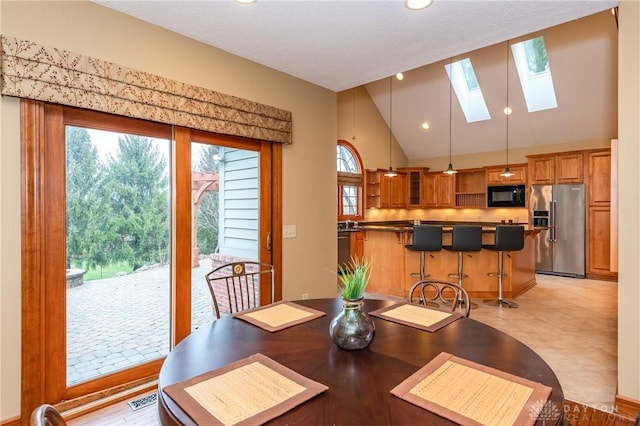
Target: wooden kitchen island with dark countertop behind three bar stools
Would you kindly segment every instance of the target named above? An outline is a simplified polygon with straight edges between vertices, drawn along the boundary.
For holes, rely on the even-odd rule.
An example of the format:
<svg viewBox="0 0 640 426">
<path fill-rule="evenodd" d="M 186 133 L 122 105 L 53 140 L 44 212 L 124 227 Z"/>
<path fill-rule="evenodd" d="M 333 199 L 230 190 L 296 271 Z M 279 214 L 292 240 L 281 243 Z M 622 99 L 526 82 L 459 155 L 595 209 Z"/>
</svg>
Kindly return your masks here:
<svg viewBox="0 0 640 426">
<path fill-rule="evenodd" d="M 482 226 L 482 243 L 493 244 L 496 223 L 487 222 L 430 222 L 422 224 L 442 225 L 442 244 L 451 243 L 451 230 L 454 225 Z M 513 299 L 536 284 L 534 238 L 538 230 L 530 230 L 525 226 L 524 249 L 504 254 L 503 297 Z M 420 271 L 420 253 L 408 250 L 405 245 L 411 244 L 413 224 L 410 221 L 392 221 L 362 223 L 350 228 L 352 253 L 373 260 L 371 281 L 367 291 L 407 297 L 409 289 L 419 279 L 411 273 Z M 463 286 L 472 298 L 496 298 L 498 295 L 498 279 L 489 277 L 489 272 L 498 271 L 498 253 L 482 249 L 479 252 L 464 254 Z M 448 250 L 427 252 L 425 254 L 425 270 L 429 279 L 456 282 L 456 278 L 448 275 L 458 269 L 458 253 Z"/>
</svg>

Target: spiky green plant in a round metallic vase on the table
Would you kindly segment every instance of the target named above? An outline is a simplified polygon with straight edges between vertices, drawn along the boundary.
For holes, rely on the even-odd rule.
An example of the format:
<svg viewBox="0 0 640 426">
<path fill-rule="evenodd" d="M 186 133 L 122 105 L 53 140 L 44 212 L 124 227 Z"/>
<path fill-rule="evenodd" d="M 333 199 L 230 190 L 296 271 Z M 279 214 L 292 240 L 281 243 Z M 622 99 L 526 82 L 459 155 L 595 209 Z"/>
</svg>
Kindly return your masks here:
<svg viewBox="0 0 640 426">
<path fill-rule="evenodd" d="M 371 279 L 371 266 L 370 260 L 354 257 L 345 266 L 338 266 L 342 311 L 331 321 L 329 334 L 342 349 L 364 349 L 373 340 L 376 326 L 362 309 L 364 290 Z"/>
</svg>

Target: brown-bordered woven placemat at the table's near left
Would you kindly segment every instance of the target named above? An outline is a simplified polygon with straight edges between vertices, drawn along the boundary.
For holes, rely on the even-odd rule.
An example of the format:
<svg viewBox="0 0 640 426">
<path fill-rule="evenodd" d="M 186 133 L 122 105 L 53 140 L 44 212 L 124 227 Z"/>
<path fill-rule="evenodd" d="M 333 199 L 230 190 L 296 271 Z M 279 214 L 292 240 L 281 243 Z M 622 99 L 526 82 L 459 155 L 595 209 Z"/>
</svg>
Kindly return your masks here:
<svg viewBox="0 0 640 426">
<path fill-rule="evenodd" d="M 255 354 L 162 390 L 196 424 L 259 425 L 327 389 L 262 354 Z"/>
</svg>

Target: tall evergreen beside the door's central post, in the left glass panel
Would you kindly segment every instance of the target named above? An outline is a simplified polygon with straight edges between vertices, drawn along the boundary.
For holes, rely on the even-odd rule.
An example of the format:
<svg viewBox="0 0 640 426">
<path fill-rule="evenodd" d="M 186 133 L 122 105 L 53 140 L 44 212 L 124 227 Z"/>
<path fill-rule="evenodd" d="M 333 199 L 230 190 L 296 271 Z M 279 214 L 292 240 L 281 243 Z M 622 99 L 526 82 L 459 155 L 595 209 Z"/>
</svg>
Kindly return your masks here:
<svg viewBox="0 0 640 426">
<path fill-rule="evenodd" d="M 168 262 L 169 191 L 167 162 L 155 142 L 137 135 L 118 138 L 108 159 L 105 194 L 112 226 L 118 235 L 114 258 L 136 270 Z"/>
</svg>

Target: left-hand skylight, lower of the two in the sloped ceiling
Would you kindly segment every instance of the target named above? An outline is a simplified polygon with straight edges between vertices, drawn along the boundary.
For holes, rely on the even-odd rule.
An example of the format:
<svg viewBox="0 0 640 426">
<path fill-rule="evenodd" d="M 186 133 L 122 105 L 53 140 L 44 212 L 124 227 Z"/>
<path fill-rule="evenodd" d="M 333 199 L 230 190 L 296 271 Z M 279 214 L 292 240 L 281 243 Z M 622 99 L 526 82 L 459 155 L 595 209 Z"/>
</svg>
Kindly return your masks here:
<svg viewBox="0 0 640 426">
<path fill-rule="evenodd" d="M 484 102 L 480 84 L 471 59 L 466 58 L 444 66 L 468 123 L 491 118 Z"/>
</svg>

